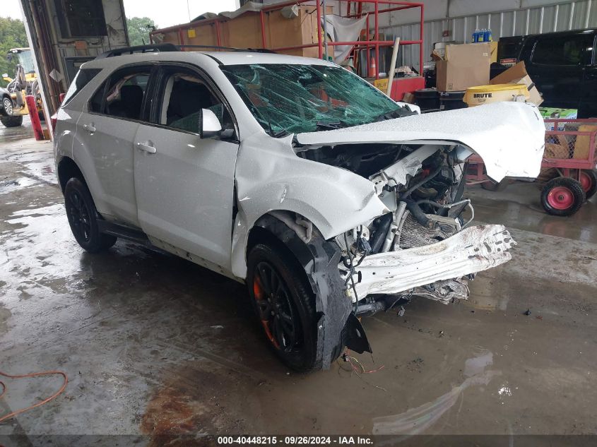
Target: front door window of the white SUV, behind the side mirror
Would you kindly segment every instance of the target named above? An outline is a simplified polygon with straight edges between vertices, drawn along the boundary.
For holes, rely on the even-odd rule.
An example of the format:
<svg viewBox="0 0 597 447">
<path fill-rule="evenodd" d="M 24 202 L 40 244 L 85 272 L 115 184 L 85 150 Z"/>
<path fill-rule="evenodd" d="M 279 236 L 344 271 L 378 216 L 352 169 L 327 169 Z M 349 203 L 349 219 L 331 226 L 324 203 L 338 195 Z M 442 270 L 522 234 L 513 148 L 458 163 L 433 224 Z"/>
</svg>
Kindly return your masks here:
<svg viewBox="0 0 597 447">
<path fill-rule="evenodd" d="M 170 72 L 165 78 L 160 124 L 172 129 L 199 133 L 201 109 L 210 109 L 222 129 L 234 129 L 226 107 L 195 73 Z"/>
</svg>

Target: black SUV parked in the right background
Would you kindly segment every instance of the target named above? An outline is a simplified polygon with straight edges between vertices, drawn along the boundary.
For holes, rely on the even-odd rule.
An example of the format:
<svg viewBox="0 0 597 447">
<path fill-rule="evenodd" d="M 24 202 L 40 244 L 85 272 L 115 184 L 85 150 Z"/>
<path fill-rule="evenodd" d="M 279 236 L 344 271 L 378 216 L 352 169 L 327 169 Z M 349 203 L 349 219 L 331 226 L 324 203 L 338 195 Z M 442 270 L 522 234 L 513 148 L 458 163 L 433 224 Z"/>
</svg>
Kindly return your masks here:
<svg viewBox="0 0 597 447">
<path fill-rule="evenodd" d="M 524 61 L 543 94 L 543 106 L 578 109 L 579 118 L 597 117 L 597 29 L 504 37 L 498 61 Z"/>
</svg>

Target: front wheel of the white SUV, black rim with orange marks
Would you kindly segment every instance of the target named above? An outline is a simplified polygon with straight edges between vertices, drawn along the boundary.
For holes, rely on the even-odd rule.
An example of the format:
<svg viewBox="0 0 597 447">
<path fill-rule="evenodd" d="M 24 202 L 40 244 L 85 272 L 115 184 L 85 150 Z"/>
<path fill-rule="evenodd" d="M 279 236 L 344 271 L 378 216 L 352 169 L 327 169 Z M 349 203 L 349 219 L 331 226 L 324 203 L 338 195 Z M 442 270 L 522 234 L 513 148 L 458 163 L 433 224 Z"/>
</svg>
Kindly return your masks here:
<svg viewBox="0 0 597 447">
<path fill-rule="evenodd" d="M 301 267 L 277 244 L 259 243 L 249 252 L 247 268 L 249 297 L 269 345 L 291 369 L 314 369 L 317 313 Z"/>
</svg>

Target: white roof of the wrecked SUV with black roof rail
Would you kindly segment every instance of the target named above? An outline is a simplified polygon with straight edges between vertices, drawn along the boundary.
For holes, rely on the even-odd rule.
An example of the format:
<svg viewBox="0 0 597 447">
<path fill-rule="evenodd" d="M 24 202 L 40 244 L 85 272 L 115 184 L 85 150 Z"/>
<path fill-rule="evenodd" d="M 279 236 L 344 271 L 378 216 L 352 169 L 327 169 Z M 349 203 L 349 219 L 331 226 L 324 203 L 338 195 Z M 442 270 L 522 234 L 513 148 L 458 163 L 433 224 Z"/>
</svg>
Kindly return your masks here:
<svg viewBox="0 0 597 447">
<path fill-rule="evenodd" d="M 213 61 L 218 65 L 243 64 L 290 64 L 336 66 L 329 61 L 312 57 L 288 56 L 286 54 L 232 51 L 232 52 L 147 52 L 105 57 L 86 62 L 82 68 L 117 68 L 119 66 L 149 61 L 203 62 Z"/>
</svg>

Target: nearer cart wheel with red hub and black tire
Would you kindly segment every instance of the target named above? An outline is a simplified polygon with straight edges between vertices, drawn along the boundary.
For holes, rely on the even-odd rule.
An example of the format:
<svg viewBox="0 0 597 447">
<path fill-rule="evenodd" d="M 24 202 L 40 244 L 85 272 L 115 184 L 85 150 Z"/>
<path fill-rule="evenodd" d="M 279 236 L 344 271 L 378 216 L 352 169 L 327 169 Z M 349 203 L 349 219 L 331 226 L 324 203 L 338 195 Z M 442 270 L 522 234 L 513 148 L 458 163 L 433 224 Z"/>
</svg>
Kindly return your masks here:
<svg viewBox="0 0 597 447">
<path fill-rule="evenodd" d="M 568 177 L 548 181 L 541 192 L 541 205 L 552 215 L 573 215 L 584 201 L 585 194 L 580 182 Z"/>
</svg>

